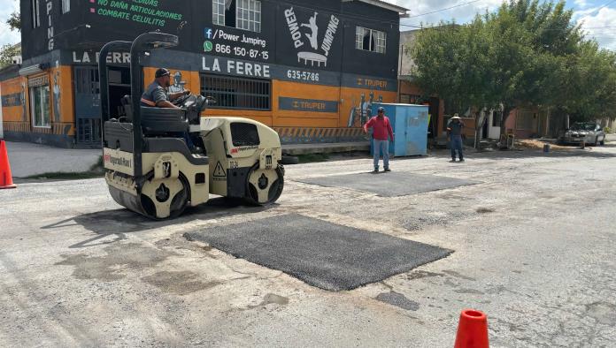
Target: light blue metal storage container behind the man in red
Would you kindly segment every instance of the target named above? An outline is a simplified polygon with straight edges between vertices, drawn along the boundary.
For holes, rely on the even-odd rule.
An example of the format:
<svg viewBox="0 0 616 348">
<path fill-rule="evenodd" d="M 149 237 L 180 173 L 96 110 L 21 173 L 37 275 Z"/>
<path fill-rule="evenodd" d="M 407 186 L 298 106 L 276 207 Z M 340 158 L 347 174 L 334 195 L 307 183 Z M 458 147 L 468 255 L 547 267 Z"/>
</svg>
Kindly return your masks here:
<svg viewBox="0 0 616 348">
<path fill-rule="evenodd" d="M 394 156 L 427 155 L 427 125 L 429 123 L 428 107 L 412 104 L 386 104 L 374 102 L 373 115 L 376 110 L 385 109 L 396 140 L 389 142 L 389 154 Z M 371 141 L 370 154 L 373 154 L 374 144 Z"/>
</svg>

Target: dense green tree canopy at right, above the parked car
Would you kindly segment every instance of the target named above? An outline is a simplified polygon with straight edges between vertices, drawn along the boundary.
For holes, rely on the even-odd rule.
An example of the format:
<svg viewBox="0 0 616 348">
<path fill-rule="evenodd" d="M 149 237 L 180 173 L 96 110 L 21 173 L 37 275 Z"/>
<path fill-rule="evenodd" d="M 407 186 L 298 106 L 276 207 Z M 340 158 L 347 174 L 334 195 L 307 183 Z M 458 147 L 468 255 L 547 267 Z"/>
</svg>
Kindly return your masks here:
<svg viewBox="0 0 616 348">
<path fill-rule="evenodd" d="M 616 116 L 616 57 L 586 40 L 565 1 L 510 0 L 466 25 L 420 31 L 416 83 L 449 110 L 551 108 L 581 119 Z"/>
</svg>

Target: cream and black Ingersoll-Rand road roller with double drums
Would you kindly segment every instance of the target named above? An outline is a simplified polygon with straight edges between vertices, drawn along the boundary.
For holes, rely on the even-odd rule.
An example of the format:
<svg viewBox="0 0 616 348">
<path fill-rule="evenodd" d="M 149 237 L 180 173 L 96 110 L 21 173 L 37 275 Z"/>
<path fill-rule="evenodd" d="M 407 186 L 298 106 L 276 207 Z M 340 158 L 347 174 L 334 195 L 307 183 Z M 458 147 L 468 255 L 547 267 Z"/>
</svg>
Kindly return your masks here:
<svg viewBox="0 0 616 348">
<path fill-rule="evenodd" d="M 143 107 L 142 61 L 154 49 L 177 46 L 173 34 L 145 33 L 134 42 L 109 42 L 109 52 L 130 52 L 131 95 L 121 116 L 110 114 L 107 60 L 99 59 L 105 181 L 119 205 L 152 219 L 180 216 L 210 195 L 268 205 L 284 186 L 278 133 L 242 117 L 202 117 L 215 102 L 185 95 L 180 109 Z M 192 144 L 191 144 L 192 143 Z"/>
</svg>

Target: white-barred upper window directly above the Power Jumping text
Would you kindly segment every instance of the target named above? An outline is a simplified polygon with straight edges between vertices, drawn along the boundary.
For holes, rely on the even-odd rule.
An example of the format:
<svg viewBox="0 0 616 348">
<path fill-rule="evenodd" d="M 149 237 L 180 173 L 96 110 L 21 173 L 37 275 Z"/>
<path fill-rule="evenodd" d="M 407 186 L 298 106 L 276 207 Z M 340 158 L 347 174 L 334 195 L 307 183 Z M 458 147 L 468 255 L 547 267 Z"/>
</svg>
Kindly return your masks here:
<svg viewBox="0 0 616 348">
<path fill-rule="evenodd" d="M 261 32 L 261 2 L 258 0 L 212 0 L 212 21 L 217 26 Z"/>
</svg>

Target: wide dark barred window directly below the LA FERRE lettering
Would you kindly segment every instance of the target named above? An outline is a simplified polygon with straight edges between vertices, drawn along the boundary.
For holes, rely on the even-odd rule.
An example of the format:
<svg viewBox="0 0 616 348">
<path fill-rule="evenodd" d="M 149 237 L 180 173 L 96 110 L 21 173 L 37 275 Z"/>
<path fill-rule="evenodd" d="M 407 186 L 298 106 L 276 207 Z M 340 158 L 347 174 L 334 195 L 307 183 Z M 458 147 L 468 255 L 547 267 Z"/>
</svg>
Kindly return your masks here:
<svg viewBox="0 0 616 348">
<path fill-rule="evenodd" d="M 212 109 L 271 110 L 268 79 L 243 79 L 232 76 L 201 75 L 201 94 L 212 96 Z"/>
</svg>

